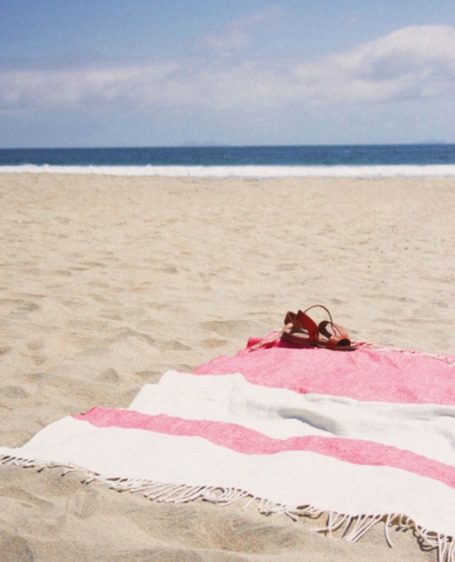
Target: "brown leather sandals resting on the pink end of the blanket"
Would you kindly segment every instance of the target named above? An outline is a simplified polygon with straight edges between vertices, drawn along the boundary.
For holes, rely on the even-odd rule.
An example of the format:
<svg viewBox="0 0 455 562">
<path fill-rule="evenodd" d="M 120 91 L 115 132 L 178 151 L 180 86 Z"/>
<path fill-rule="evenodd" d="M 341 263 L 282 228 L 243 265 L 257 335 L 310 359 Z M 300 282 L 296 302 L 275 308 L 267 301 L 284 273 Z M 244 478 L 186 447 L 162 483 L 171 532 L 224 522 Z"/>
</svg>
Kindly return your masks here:
<svg viewBox="0 0 455 562">
<path fill-rule="evenodd" d="M 330 320 L 323 320 L 317 325 L 306 314 L 311 308 L 323 308 Z M 346 330 L 334 323 L 330 311 L 322 304 L 314 304 L 303 312 L 299 310 L 297 314 L 288 312 L 284 318 L 284 328 L 279 334 L 271 339 L 256 343 L 250 349 L 258 349 L 258 347 L 273 343 L 273 341 L 277 341 L 280 338 L 300 347 L 326 347 L 328 350 L 334 351 L 352 351 L 357 349 L 357 345 L 351 343 Z"/>
</svg>

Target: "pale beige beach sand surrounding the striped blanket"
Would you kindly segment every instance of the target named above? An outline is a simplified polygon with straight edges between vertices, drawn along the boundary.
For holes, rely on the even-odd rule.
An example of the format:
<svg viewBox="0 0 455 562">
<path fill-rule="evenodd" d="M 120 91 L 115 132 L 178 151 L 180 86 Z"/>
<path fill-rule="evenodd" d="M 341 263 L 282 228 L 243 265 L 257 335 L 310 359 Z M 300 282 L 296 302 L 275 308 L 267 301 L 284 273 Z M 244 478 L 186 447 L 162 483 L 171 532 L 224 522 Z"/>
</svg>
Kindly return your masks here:
<svg viewBox="0 0 455 562">
<path fill-rule="evenodd" d="M 354 339 L 455 354 L 454 208 L 454 179 L 1 174 L 0 445 L 314 303 Z M 0 561 L 436 560 L 382 524 L 352 544 L 61 474 L 0 467 Z"/>
</svg>

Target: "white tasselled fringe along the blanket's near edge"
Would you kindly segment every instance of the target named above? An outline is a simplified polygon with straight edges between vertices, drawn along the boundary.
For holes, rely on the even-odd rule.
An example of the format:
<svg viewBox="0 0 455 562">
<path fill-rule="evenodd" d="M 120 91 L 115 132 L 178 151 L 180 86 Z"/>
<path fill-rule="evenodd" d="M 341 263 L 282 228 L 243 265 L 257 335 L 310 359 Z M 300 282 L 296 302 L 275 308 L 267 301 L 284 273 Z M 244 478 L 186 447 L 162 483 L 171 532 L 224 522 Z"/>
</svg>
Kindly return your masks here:
<svg viewBox="0 0 455 562">
<path fill-rule="evenodd" d="M 326 533 L 330 538 L 341 539 L 349 542 L 357 542 L 368 533 L 373 526 L 384 522 L 384 535 L 386 543 L 392 547 L 389 528 L 395 530 L 412 530 L 422 550 L 437 550 L 438 562 L 455 562 L 455 537 L 441 535 L 416 524 L 410 517 L 399 513 L 376 514 L 376 515 L 349 515 L 347 513 L 336 513 L 324 511 L 314 506 L 286 506 L 267 500 L 257 498 L 245 490 L 228 487 L 206 487 L 188 486 L 182 484 L 169 484 L 164 482 L 153 482 L 141 480 L 140 478 L 112 478 L 78 467 L 77 465 L 64 465 L 60 463 L 49 463 L 37 459 L 24 459 L 11 455 L 0 456 L 0 465 L 14 465 L 24 468 L 35 468 L 42 472 L 47 468 L 58 468 L 62 470 L 62 476 L 69 472 L 84 474 L 84 484 L 90 482 L 104 482 L 116 491 L 130 491 L 131 493 L 142 493 L 145 498 L 164 503 L 186 503 L 194 500 L 204 500 L 221 505 L 229 505 L 238 500 L 249 498 L 243 505 L 246 511 L 252 503 L 258 502 L 258 511 L 262 515 L 271 513 L 284 513 L 294 521 L 299 517 L 317 519 L 324 513 L 328 513 L 325 526 L 312 528 L 316 533 Z M 334 536 L 334 533 L 337 536 Z"/>
</svg>

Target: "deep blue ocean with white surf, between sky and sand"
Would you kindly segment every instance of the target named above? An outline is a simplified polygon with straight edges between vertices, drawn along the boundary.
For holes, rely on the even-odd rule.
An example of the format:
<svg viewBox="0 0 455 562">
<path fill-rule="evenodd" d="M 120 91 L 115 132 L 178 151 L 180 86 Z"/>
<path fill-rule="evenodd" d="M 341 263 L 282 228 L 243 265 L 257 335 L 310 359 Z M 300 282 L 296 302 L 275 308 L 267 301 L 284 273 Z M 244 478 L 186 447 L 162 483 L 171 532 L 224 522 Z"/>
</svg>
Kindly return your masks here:
<svg viewBox="0 0 455 562">
<path fill-rule="evenodd" d="M 0 172 L 218 178 L 455 177 L 455 145 L 0 149 Z"/>
</svg>

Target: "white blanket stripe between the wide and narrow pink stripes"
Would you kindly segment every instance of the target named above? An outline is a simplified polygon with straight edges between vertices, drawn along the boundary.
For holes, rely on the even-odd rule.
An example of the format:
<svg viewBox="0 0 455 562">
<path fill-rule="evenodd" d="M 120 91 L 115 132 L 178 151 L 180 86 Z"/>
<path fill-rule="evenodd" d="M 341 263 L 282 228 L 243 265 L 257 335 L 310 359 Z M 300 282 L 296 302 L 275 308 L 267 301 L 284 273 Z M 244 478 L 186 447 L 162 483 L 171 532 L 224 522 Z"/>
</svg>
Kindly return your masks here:
<svg viewBox="0 0 455 562">
<path fill-rule="evenodd" d="M 168 371 L 158 384 L 146 384 L 130 409 L 238 424 L 276 439 L 319 435 L 374 441 L 455 465 L 454 406 L 360 402 L 260 387 L 241 374 Z"/>
</svg>

